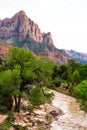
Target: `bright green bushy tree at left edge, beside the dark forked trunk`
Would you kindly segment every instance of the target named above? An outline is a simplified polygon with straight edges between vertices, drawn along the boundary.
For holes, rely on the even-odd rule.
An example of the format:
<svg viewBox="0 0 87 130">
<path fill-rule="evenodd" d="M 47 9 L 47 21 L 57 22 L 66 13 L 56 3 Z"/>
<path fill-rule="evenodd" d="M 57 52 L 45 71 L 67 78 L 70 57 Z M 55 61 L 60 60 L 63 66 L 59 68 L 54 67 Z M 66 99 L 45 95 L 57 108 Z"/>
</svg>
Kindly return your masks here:
<svg viewBox="0 0 87 130">
<path fill-rule="evenodd" d="M 18 94 L 19 83 L 18 70 L 6 70 L 0 73 L 0 104 L 9 110 L 12 108 L 12 96 Z"/>
</svg>

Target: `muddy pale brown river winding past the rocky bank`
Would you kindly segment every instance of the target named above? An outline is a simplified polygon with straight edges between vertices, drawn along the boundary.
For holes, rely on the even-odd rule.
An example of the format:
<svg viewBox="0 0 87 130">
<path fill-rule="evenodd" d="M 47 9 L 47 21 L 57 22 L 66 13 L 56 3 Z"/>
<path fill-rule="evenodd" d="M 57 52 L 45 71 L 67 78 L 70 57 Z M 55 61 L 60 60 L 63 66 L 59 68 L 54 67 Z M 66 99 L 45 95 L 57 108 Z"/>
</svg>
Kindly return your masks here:
<svg viewBox="0 0 87 130">
<path fill-rule="evenodd" d="M 51 130 L 87 130 L 87 114 L 79 109 L 76 99 L 55 91 L 54 93 L 52 104 L 64 114 L 52 122 Z"/>
</svg>

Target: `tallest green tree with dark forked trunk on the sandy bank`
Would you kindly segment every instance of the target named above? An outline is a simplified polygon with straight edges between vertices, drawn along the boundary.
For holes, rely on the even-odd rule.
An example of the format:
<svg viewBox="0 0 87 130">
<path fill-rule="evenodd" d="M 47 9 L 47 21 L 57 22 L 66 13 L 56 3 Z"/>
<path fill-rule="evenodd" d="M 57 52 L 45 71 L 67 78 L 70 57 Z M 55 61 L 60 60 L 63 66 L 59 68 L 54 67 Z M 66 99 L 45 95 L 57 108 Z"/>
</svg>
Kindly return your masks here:
<svg viewBox="0 0 87 130">
<path fill-rule="evenodd" d="M 20 103 L 21 103 L 21 96 L 24 91 L 24 87 L 27 83 L 31 83 L 34 79 L 34 74 L 32 70 L 32 66 L 34 64 L 34 55 L 27 51 L 24 48 L 18 48 L 14 47 L 10 50 L 8 54 L 8 64 L 10 70 L 12 70 L 13 74 L 13 86 L 14 88 L 18 88 L 18 95 L 14 95 L 15 99 L 15 111 L 20 111 Z M 17 70 L 15 68 L 18 68 L 19 75 L 16 77 Z M 28 71 L 27 71 L 28 70 Z M 13 73 L 14 72 L 14 73 Z M 32 77 L 32 78 L 31 78 Z M 31 79 L 30 79 L 31 78 Z M 19 84 L 17 83 L 17 79 Z M 10 80 L 9 80 L 9 83 Z M 18 86 L 18 87 L 17 87 Z M 18 99 L 18 100 L 17 100 Z"/>
</svg>

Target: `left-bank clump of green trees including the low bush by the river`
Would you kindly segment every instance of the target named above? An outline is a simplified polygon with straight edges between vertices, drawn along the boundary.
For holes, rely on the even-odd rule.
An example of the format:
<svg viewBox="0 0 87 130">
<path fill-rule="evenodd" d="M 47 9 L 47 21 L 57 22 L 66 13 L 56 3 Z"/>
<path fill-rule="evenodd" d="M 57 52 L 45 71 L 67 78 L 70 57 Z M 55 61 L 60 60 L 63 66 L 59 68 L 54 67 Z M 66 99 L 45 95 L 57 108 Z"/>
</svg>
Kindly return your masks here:
<svg viewBox="0 0 87 130">
<path fill-rule="evenodd" d="M 0 66 L 0 105 L 11 110 L 14 102 L 14 111 L 20 112 L 23 93 L 34 106 L 45 103 L 43 88 L 50 86 L 53 67 L 54 63 L 46 58 L 37 58 L 24 48 L 12 48 L 6 64 Z"/>
</svg>

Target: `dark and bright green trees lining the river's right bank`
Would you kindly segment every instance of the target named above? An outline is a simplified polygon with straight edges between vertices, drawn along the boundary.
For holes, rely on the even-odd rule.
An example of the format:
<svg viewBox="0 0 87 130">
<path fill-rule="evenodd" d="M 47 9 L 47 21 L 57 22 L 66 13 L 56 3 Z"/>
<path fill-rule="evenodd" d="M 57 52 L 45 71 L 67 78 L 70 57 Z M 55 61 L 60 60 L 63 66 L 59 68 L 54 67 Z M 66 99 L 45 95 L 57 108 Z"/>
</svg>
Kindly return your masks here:
<svg viewBox="0 0 87 130">
<path fill-rule="evenodd" d="M 87 111 L 87 64 L 69 60 L 55 66 L 52 81 L 57 91 L 76 97 L 80 108 Z"/>
</svg>

